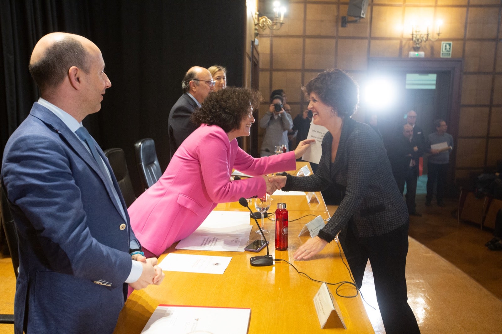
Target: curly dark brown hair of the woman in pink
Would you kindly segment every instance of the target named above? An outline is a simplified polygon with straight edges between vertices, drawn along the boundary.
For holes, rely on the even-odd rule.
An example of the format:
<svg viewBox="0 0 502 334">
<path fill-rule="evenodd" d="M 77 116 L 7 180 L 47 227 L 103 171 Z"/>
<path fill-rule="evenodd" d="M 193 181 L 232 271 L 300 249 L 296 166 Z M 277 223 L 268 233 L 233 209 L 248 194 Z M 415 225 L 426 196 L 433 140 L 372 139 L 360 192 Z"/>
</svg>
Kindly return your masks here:
<svg viewBox="0 0 502 334">
<path fill-rule="evenodd" d="M 210 92 L 202 106 L 195 110 L 191 120 L 200 125 L 218 125 L 225 132 L 238 129 L 240 121 L 247 116 L 249 103 L 258 110 L 262 95 L 249 88 L 227 87 Z"/>
</svg>

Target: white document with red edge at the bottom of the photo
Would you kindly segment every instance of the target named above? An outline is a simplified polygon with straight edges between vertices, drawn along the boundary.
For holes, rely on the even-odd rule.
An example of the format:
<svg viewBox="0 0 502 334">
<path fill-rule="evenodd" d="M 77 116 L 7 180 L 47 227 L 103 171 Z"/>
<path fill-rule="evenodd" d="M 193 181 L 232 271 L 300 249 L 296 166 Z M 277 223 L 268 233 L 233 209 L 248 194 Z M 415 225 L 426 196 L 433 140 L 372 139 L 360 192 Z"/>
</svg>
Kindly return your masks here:
<svg viewBox="0 0 502 334">
<path fill-rule="evenodd" d="M 142 334 L 246 334 L 250 308 L 159 305 Z"/>
</svg>

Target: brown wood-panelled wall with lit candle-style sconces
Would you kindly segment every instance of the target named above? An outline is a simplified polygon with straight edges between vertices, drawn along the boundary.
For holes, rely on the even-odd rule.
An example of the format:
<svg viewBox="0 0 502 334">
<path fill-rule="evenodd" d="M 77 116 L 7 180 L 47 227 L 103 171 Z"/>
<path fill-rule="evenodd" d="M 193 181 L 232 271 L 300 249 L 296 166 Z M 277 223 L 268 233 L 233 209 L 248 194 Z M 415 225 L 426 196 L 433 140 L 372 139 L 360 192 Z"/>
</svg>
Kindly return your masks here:
<svg viewBox="0 0 502 334">
<path fill-rule="evenodd" d="M 452 58 L 463 59 L 455 178 L 495 166 L 502 159 L 502 1 L 370 0 L 365 19 L 341 28 L 347 5 L 290 0 L 282 29 L 260 31 L 264 97 L 283 88 L 294 118 L 307 107 L 300 87 L 317 73 L 341 68 L 362 79 L 370 57 L 402 58 L 413 51 L 411 27 L 400 28 L 411 18 L 440 19 L 440 39 L 424 43 L 421 51 L 426 58 L 439 58 L 441 41 L 451 41 Z M 264 103 L 260 116 L 267 108 Z"/>
</svg>

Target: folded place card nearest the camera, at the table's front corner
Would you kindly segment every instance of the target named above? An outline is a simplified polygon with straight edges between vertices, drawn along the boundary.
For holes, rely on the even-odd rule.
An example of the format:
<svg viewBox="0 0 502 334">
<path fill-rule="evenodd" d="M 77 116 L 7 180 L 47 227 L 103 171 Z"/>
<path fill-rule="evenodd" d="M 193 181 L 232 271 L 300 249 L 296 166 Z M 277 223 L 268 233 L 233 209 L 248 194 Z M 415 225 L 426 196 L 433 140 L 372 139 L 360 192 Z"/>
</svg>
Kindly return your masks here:
<svg viewBox="0 0 502 334">
<path fill-rule="evenodd" d="M 321 328 L 339 328 L 343 325 L 343 328 L 347 329 L 340 306 L 338 306 L 336 300 L 331 300 L 331 294 L 326 282 L 323 282 L 321 288 L 317 291 L 314 297 L 314 306 Z"/>
</svg>

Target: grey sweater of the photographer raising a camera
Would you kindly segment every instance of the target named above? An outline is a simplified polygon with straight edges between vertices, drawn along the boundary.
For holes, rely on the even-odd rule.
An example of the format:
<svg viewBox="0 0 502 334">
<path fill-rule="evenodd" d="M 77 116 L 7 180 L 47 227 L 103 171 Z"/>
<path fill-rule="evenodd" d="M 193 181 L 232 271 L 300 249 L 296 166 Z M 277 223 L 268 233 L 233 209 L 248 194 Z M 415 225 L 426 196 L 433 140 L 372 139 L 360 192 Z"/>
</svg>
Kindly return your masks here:
<svg viewBox="0 0 502 334">
<path fill-rule="evenodd" d="M 275 146 L 277 145 L 286 145 L 288 147 L 288 130 L 293 127 L 293 119 L 290 114 L 284 112 L 279 114 L 276 119 L 269 110 L 260 119 L 260 127 L 267 129 L 263 137 L 261 156 L 274 155 Z"/>
</svg>

